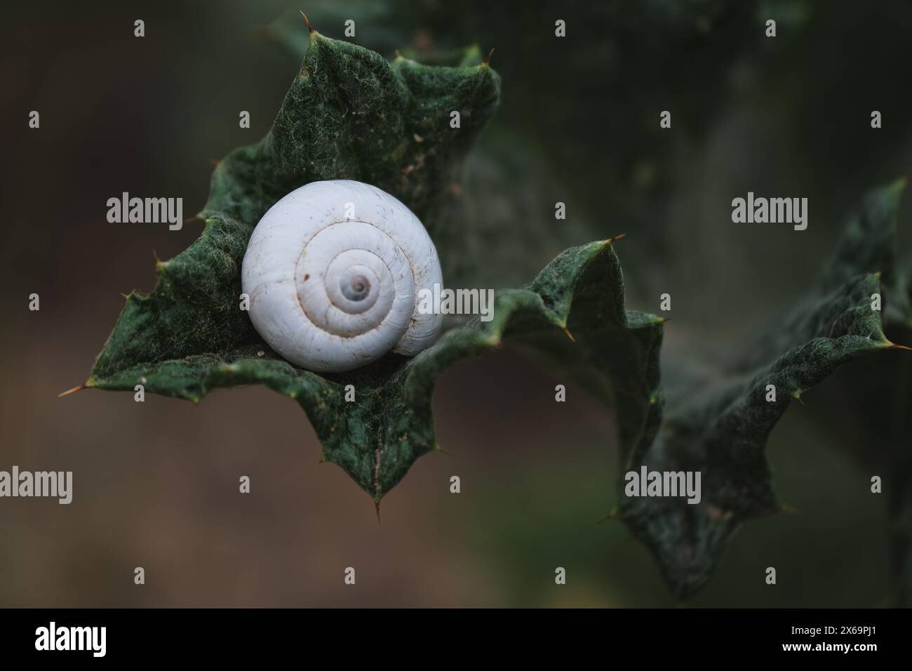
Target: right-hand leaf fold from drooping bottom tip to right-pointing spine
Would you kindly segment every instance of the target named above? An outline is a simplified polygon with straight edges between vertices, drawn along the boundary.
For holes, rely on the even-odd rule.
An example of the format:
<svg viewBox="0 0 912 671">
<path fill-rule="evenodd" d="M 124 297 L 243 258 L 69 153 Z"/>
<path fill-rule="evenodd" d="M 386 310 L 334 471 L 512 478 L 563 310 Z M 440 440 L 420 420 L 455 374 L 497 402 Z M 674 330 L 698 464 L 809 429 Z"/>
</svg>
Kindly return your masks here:
<svg viewBox="0 0 912 671">
<path fill-rule="evenodd" d="M 746 519 L 777 511 L 766 462 L 767 438 L 793 399 L 840 364 L 890 346 L 871 293 L 876 276 L 855 279 L 824 299 L 803 327 L 803 341 L 755 372 L 698 394 L 679 408 L 631 469 L 699 471 L 702 499 L 623 498 L 621 516 L 656 555 L 674 592 L 686 597 L 710 579 L 731 533 Z M 776 401 L 766 401 L 767 385 Z"/>
</svg>

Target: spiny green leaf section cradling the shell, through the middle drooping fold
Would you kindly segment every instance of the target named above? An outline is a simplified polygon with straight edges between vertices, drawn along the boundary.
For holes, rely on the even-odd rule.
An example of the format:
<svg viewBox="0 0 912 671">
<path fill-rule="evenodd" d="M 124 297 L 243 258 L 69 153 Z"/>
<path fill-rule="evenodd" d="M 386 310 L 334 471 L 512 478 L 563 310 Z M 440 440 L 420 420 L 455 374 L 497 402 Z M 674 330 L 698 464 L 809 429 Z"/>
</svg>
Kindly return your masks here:
<svg viewBox="0 0 912 671">
<path fill-rule="evenodd" d="M 141 383 L 151 393 L 199 401 L 212 389 L 264 384 L 304 408 L 326 461 L 379 501 L 437 447 L 430 396 L 440 372 L 510 340 L 617 405 L 624 439 L 635 440 L 657 391 L 662 320 L 628 318 L 610 241 L 567 250 L 526 288 L 501 293 L 491 322 L 451 330 L 413 359 L 389 354 L 345 374 L 285 362 L 239 309 L 241 261 L 254 225 L 277 199 L 315 180 L 356 179 L 395 194 L 429 228 L 446 265 L 440 209 L 498 90 L 483 64 L 389 64 L 312 34 L 269 135 L 219 164 L 202 236 L 158 263 L 150 295 L 130 294 L 87 386 L 132 390 Z M 461 110 L 459 130 L 450 127 L 451 110 Z M 357 390 L 354 403 L 345 400 L 347 384 Z"/>
</svg>

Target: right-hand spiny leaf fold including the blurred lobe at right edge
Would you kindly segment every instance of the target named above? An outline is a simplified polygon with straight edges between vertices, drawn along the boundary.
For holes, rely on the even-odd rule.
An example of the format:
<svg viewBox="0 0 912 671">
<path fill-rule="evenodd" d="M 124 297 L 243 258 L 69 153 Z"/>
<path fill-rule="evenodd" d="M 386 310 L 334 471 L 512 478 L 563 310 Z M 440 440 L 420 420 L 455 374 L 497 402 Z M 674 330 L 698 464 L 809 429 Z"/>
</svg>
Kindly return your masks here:
<svg viewBox="0 0 912 671">
<path fill-rule="evenodd" d="M 657 471 L 699 471 L 702 500 L 626 498 L 621 518 L 656 557 L 666 581 L 688 597 L 709 581 L 728 540 L 741 524 L 781 509 L 765 448 L 773 426 L 793 400 L 841 364 L 895 348 L 882 329 L 872 294 L 896 271 L 896 209 L 905 182 L 865 196 L 824 272 L 821 288 L 778 328 L 745 346 L 729 371 L 689 390 L 658 439 L 628 462 Z M 886 284 L 884 285 L 886 287 Z M 901 304 L 898 288 L 885 288 Z M 898 309 L 897 312 L 898 314 Z M 767 402 L 767 385 L 776 401 Z"/>
</svg>

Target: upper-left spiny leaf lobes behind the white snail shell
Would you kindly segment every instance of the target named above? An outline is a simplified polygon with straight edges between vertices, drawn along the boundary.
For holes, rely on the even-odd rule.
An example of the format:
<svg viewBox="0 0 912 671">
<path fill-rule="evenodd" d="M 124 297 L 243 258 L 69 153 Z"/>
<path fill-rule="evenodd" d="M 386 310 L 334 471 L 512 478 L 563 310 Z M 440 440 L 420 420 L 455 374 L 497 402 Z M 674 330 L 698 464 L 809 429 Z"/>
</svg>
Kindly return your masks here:
<svg viewBox="0 0 912 671">
<path fill-rule="evenodd" d="M 446 237 L 435 233 L 440 206 L 492 116 L 499 88 L 486 66 L 390 65 L 368 49 L 312 33 L 272 130 L 218 164 L 202 236 L 157 266 L 152 294 L 130 294 L 93 378 L 140 362 L 268 350 L 238 309 L 241 262 L 266 210 L 302 184 L 372 183 L 408 205 L 432 235 Z M 460 129 L 449 124 L 454 109 L 462 112 Z M 445 265 L 446 254 L 440 257 Z"/>
</svg>

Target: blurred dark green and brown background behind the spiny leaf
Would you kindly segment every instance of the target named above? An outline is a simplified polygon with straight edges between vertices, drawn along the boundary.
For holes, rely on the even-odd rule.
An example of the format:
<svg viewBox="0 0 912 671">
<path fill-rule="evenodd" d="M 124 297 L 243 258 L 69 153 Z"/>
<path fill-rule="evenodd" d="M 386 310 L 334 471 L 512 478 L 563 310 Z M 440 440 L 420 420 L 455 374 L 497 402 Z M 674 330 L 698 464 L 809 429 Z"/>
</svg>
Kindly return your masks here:
<svg viewBox="0 0 912 671">
<path fill-rule="evenodd" d="M 466 166 L 473 263 L 461 279 L 516 286 L 565 246 L 627 233 L 617 252 L 628 308 L 657 311 L 659 294 L 672 295 L 672 389 L 787 312 L 861 194 L 912 164 L 907 2 L 8 7 L 0 469 L 72 470 L 74 500 L 0 500 L 0 605 L 676 605 L 647 550 L 619 522 L 598 523 L 617 502 L 614 418 L 573 385 L 555 404 L 554 384 L 567 381 L 509 348 L 442 378 L 434 407 L 451 454 L 420 459 L 384 499 L 382 526 L 341 470 L 316 464 L 305 415 L 275 393 L 218 392 L 197 406 L 57 399 L 88 374 L 119 294 L 152 288 L 152 250 L 171 257 L 199 234 L 109 224 L 107 199 L 181 196 L 186 215 L 198 210 L 210 162 L 264 135 L 295 76 L 298 9 L 328 37 L 354 19 L 352 40 L 387 56 L 496 48 L 502 109 Z M 658 128 L 660 110 L 672 111 L 671 131 Z M 731 198 L 747 191 L 808 197 L 808 229 L 732 225 Z M 554 220 L 556 201 L 566 221 Z M 904 204 L 907 251 L 910 215 Z M 873 377 L 854 362 L 790 408 L 769 457 L 796 512 L 741 529 L 689 605 L 892 602 L 886 500 L 857 455 L 895 442 L 887 426 L 909 414 L 908 386 L 895 384 L 912 379 L 902 354 L 885 353 Z M 890 404 L 854 400 L 879 396 Z M 343 583 L 348 566 L 355 587 Z"/>
</svg>

